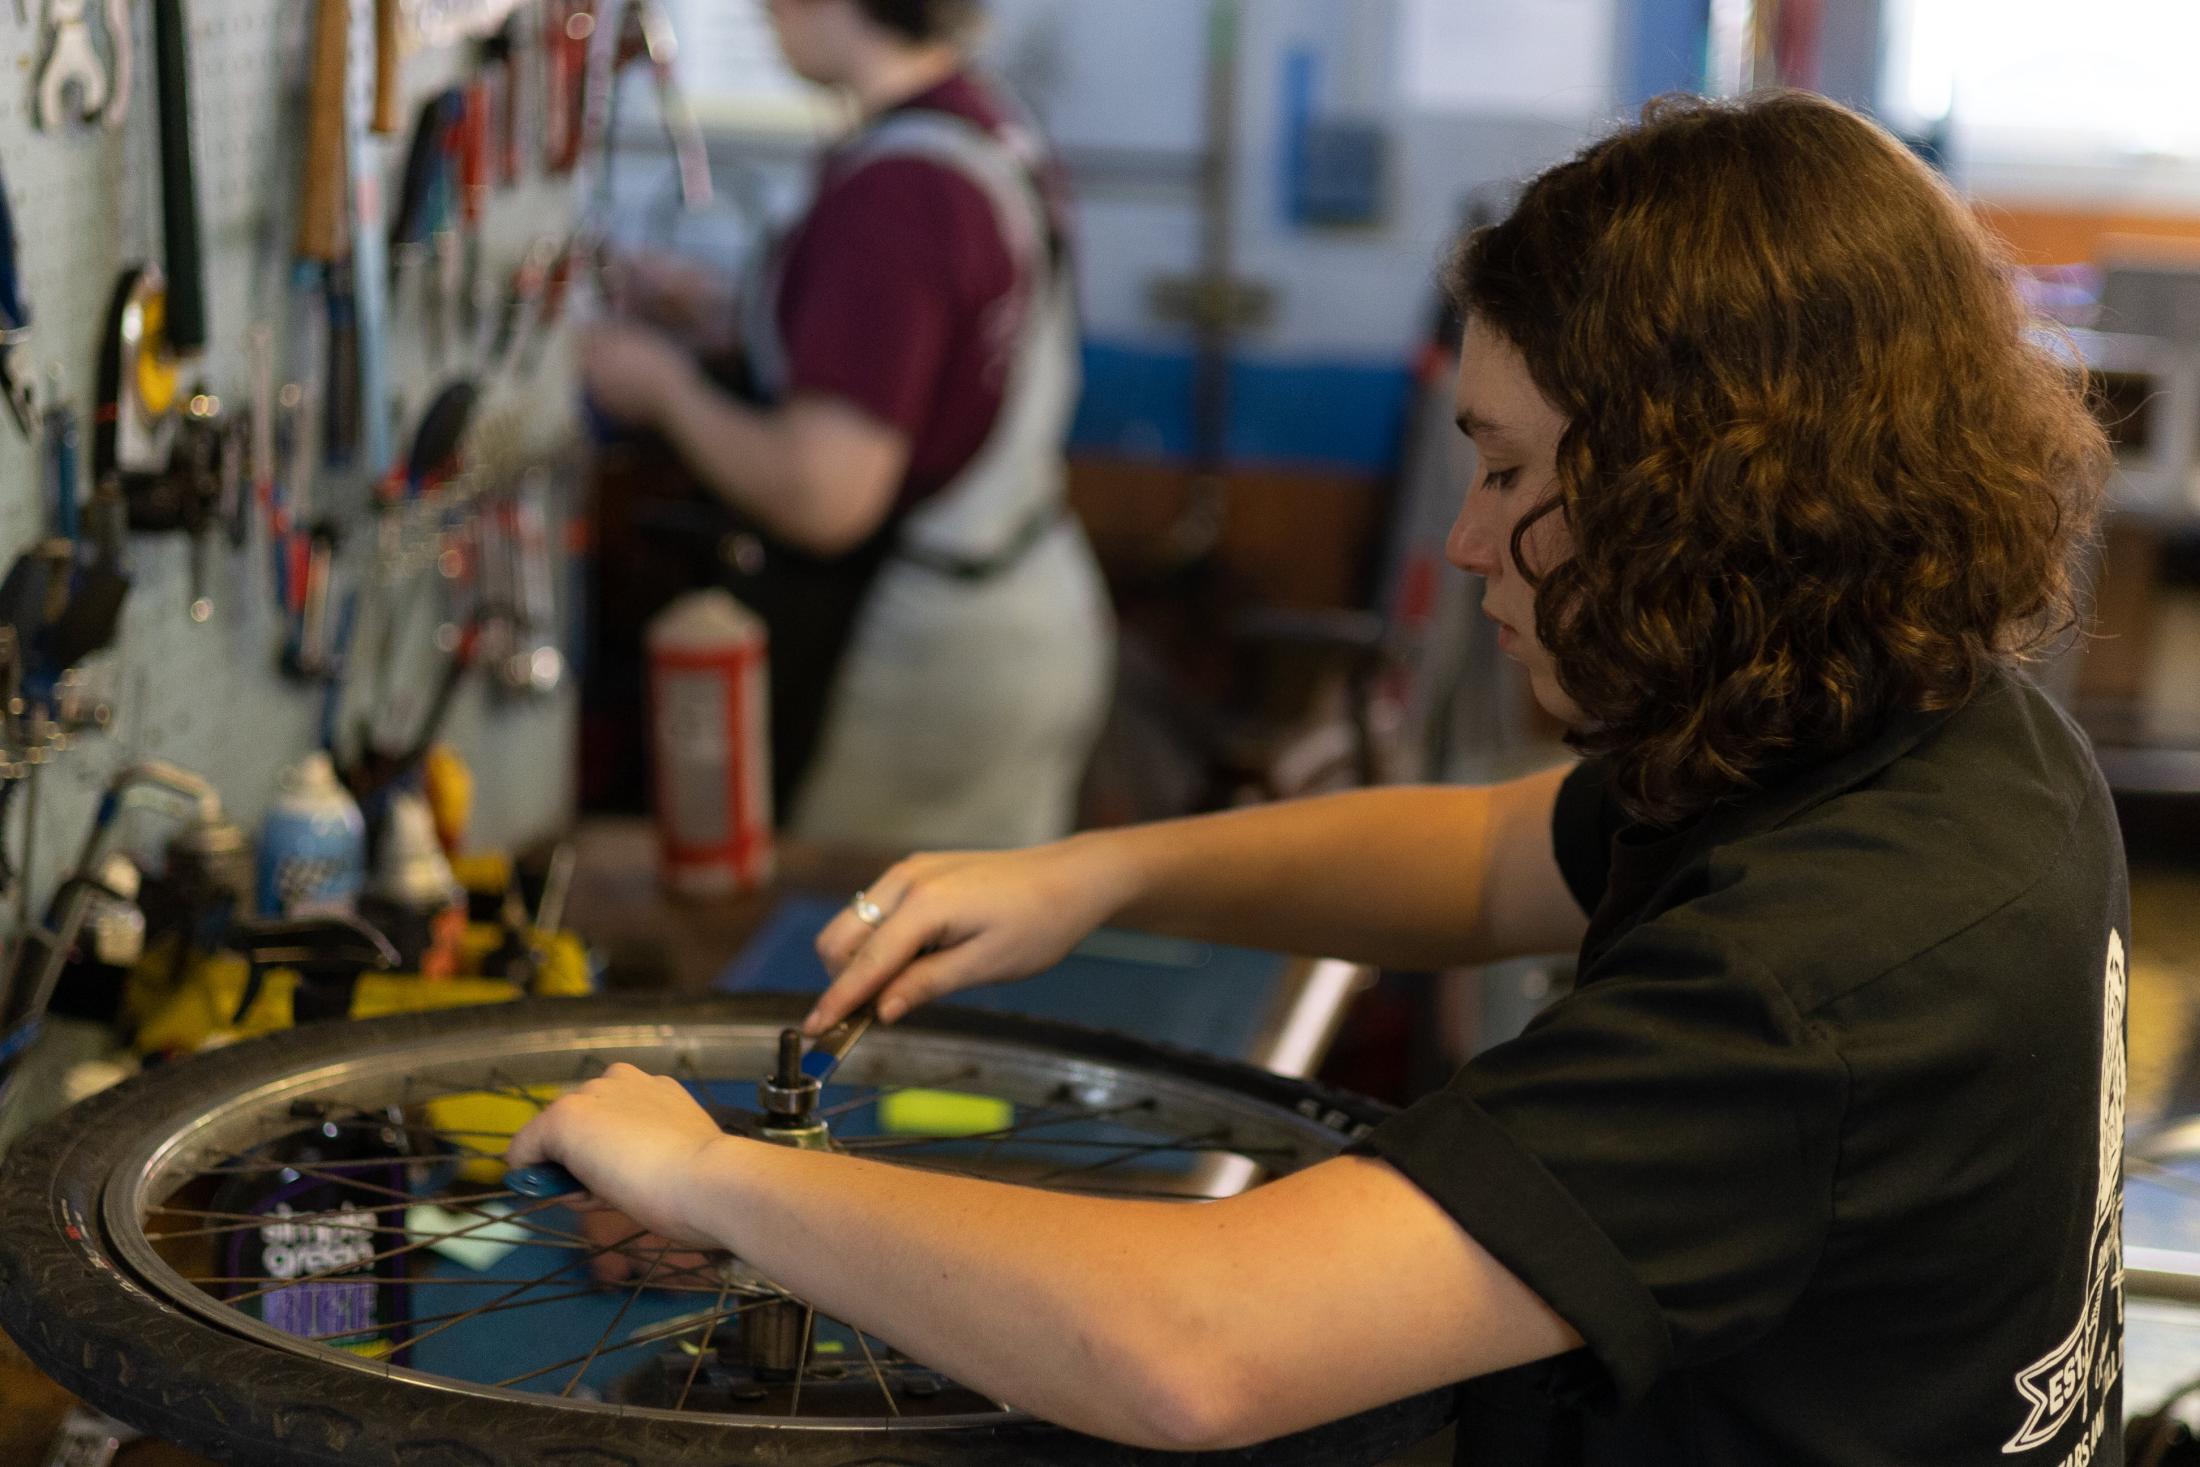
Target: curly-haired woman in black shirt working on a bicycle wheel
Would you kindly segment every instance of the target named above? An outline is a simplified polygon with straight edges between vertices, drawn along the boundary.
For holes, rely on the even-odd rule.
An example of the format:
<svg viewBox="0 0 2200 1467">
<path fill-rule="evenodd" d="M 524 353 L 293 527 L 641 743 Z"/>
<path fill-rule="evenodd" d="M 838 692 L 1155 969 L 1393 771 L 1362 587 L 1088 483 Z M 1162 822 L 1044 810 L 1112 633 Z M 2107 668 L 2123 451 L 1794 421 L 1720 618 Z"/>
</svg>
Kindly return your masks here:
<svg viewBox="0 0 2200 1467">
<path fill-rule="evenodd" d="M 517 1159 L 1032 1412 L 1234 1447 L 1459 1386 L 1498 1467 L 2121 1460 L 2121 845 L 2022 664 L 2105 442 L 1969 211 L 1804 95 L 1654 106 L 1452 271 L 1450 559 L 1582 761 L 1023 853 L 821 937 L 814 1027 L 1102 922 L 1571 990 L 1206 1207 L 719 1135 L 616 1071 Z"/>
</svg>

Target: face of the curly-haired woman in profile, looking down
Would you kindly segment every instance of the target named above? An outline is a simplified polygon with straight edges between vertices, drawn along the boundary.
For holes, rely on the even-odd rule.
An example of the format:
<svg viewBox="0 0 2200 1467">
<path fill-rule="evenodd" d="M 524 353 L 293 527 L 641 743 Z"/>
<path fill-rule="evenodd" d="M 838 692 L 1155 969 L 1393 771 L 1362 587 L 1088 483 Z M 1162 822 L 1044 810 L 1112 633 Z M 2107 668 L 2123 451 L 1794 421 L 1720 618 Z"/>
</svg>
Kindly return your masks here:
<svg viewBox="0 0 2200 1467">
<path fill-rule="evenodd" d="M 1536 587 L 1511 559 L 1514 526 L 1558 493 L 1566 418 L 1536 387 L 1518 348 L 1481 321 L 1467 321 L 1456 407 L 1459 429 L 1474 442 L 1474 479 L 1443 554 L 1483 576 L 1483 614 L 1503 627 L 1498 647 L 1527 669 L 1544 713 L 1575 728 L 1582 708 L 1558 686 L 1558 664 L 1536 640 Z M 1538 519 L 1520 552 L 1538 574 L 1573 554 L 1564 515 Z"/>
</svg>

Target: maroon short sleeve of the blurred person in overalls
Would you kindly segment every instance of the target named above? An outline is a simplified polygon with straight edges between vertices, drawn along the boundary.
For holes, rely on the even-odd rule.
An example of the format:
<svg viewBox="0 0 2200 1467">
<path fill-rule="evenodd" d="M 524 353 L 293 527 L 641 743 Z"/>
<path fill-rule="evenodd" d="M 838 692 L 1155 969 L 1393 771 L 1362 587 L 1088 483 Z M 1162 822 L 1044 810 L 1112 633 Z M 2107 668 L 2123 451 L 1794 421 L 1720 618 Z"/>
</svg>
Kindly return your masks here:
<svg viewBox="0 0 2200 1467">
<path fill-rule="evenodd" d="M 957 332 L 983 293 L 1014 284 L 975 183 L 920 158 L 880 158 L 829 185 L 792 244 L 781 295 L 788 394 L 838 398 L 924 435 Z"/>
</svg>

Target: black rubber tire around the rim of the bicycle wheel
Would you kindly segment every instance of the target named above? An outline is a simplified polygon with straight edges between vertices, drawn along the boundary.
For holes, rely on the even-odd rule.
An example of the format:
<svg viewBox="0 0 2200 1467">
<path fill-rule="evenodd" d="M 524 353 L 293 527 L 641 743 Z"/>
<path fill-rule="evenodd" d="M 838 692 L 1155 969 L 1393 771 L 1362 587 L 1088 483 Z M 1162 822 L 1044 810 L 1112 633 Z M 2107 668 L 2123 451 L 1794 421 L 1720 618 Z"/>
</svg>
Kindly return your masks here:
<svg viewBox="0 0 2200 1467">
<path fill-rule="evenodd" d="M 550 1023 L 796 1023 L 805 1001 L 563 999 L 464 1010 L 471 1027 Z M 376 1379 L 231 1335 L 145 1289 L 101 1234 L 101 1194 L 132 1144 L 125 1117 L 167 1124 L 286 1069 L 447 1034 L 451 1014 L 310 1025 L 147 1071 L 53 1117 L 0 1166 L 0 1328 L 66 1390 L 117 1419 L 249 1467 L 1333 1467 L 1426 1441 L 1452 1419 L 1437 1390 L 1241 1452 L 1159 1454 L 1019 1421 L 953 1434 L 744 1427 L 561 1412 Z M 1032 1043 L 1291 1108 L 1349 1141 L 1379 1102 L 1080 1025 L 933 1007 L 904 1027 Z M 607 1436 L 616 1425 L 616 1438 Z"/>
</svg>

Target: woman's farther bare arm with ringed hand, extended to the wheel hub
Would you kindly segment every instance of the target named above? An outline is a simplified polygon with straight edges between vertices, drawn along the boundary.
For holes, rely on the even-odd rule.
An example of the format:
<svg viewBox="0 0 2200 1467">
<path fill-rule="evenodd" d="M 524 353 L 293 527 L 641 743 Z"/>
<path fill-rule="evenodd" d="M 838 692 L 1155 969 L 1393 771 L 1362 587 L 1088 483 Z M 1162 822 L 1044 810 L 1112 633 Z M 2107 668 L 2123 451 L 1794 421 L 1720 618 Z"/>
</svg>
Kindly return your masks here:
<svg viewBox="0 0 2200 1467">
<path fill-rule="evenodd" d="M 1384 787 L 1089 831 L 1030 851 L 915 856 L 818 937 L 834 985 L 810 1029 L 867 999 L 917 1003 L 1058 963 L 1096 926 L 1452 968 L 1582 941 L 1551 812 L 1564 770 L 1505 785 Z"/>
</svg>

